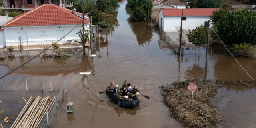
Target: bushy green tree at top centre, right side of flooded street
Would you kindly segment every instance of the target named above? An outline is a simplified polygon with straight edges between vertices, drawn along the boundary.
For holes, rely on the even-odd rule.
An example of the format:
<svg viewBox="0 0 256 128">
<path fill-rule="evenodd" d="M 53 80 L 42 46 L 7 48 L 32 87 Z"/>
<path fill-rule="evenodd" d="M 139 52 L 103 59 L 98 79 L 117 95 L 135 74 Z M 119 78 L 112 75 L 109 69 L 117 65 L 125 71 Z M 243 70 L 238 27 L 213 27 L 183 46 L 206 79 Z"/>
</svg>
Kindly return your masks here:
<svg viewBox="0 0 256 128">
<path fill-rule="evenodd" d="M 128 0 L 127 5 L 132 8 L 132 14 L 138 20 L 146 20 L 152 14 L 153 4 L 151 0 Z"/>
</svg>

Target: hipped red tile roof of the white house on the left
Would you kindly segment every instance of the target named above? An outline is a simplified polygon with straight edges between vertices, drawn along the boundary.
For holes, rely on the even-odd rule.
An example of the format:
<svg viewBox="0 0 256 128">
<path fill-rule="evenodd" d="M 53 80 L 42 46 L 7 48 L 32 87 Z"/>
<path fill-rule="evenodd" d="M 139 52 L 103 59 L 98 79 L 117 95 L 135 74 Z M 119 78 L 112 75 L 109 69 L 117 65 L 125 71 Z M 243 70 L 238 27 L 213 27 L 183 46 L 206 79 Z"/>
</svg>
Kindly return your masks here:
<svg viewBox="0 0 256 128">
<path fill-rule="evenodd" d="M 80 15 L 82 16 L 82 14 Z M 38 8 L 16 16 L 4 24 L 3 27 L 82 24 L 82 19 L 74 15 L 72 10 L 54 4 L 43 4 Z M 89 24 L 89 19 L 84 20 L 84 23 Z"/>
</svg>

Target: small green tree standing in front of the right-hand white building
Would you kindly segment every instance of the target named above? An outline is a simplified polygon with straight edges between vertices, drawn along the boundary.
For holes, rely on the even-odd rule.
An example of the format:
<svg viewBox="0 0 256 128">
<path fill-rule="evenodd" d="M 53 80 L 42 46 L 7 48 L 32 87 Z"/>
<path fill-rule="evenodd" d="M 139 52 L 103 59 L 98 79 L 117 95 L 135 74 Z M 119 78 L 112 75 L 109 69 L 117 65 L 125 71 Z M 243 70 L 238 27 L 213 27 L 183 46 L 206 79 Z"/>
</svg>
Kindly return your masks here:
<svg viewBox="0 0 256 128">
<path fill-rule="evenodd" d="M 207 28 L 203 25 L 196 27 L 196 29 L 188 30 L 189 34 L 186 34 L 188 41 L 192 42 L 195 46 L 200 47 L 202 44 L 206 44 L 207 40 Z M 198 51 L 199 52 L 199 51 Z"/>
</svg>

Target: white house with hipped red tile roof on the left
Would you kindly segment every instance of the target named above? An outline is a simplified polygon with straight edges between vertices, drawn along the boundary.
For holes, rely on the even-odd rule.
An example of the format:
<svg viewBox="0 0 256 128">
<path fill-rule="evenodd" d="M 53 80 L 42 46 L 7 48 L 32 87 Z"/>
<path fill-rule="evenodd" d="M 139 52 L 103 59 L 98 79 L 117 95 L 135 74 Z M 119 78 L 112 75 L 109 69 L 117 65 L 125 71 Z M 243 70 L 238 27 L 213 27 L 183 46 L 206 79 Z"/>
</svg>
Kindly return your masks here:
<svg viewBox="0 0 256 128">
<path fill-rule="evenodd" d="M 4 28 L 6 46 L 18 46 L 18 38 L 22 38 L 24 46 L 48 45 L 60 40 L 58 44 L 73 43 L 80 40 L 78 31 L 82 29 L 82 14 L 54 5 L 44 4 L 24 14 L 16 16 L 2 27 Z M 89 28 L 85 15 L 85 28 Z M 75 28 L 76 27 L 76 28 Z"/>
</svg>

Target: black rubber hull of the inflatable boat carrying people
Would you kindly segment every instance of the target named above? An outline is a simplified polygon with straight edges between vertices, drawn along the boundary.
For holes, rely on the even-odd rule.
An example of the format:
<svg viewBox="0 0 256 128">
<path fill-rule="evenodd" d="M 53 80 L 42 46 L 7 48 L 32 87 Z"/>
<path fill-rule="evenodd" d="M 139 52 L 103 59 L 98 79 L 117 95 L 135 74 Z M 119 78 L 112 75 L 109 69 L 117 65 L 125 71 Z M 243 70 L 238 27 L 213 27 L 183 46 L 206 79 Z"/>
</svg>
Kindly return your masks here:
<svg viewBox="0 0 256 128">
<path fill-rule="evenodd" d="M 116 98 L 116 96 L 114 96 L 114 94 L 112 92 L 108 92 L 106 90 L 106 94 L 108 95 L 108 97 L 110 97 L 110 99 L 115 103 L 118 104 L 119 100 Z M 133 101 L 128 101 L 128 100 L 120 100 L 119 103 L 120 107 L 123 108 L 134 108 L 136 106 L 138 106 L 140 104 L 140 100 L 137 98 L 137 96 L 135 98 L 133 98 Z"/>
</svg>

